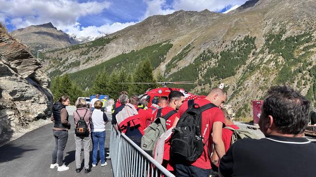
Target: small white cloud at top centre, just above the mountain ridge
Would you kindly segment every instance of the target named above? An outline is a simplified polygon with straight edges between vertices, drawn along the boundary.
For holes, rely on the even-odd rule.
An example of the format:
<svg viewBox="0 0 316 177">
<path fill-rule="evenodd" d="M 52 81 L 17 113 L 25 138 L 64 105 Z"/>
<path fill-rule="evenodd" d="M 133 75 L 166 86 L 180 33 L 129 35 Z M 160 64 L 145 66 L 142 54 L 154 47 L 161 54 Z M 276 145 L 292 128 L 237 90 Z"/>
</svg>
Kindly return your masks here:
<svg viewBox="0 0 316 177">
<path fill-rule="evenodd" d="M 168 8 L 166 0 L 144 0 L 144 2 L 147 4 L 147 8 L 141 20 L 152 15 L 167 15 L 175 11 Z"/>
</svg>

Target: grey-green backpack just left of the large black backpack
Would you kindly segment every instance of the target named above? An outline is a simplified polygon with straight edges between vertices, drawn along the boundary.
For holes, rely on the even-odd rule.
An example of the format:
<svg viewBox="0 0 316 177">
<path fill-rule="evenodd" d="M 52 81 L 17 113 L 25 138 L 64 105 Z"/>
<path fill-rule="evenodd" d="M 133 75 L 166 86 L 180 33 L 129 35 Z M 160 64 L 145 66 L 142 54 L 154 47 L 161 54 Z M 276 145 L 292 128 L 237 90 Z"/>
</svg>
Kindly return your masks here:
<svg viewBox="0 0 316 177">
<path fill-rule="evenodd" d="M 157 118 L 146 129 L 142 137 L 141 148 L 152 157 L 154 156 L 155 148 L 160 136 L 167 131 L 166 120 L 177 111 L 172 110 L 163 118 L 160 117 L 162 108 L 158 109 Z"/>
</svg>

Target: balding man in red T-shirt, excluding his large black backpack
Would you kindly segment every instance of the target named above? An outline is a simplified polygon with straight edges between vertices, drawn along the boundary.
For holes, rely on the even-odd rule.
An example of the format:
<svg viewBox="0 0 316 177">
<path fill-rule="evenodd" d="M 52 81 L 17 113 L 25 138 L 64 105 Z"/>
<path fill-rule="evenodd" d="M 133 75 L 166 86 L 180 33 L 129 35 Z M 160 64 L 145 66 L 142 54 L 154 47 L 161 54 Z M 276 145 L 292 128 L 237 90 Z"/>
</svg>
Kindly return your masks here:
<svg viewBox="0 0 316 177">
<path fill-rule="evenodd" d="M 193 163 L 175 162 L 174 168 L 177 177 L 208 177 L 211 169 L 210 150 L 208 149 L 211 149 L 212 144 L 214 144 L 214 150 L 220 158 L 225 154 L 225 147 L 222 140 L 222 127 L 225 123 L 225 118 L 220 109 L 225 101 L 226 93 L 219 88 L 212 89 L 205 98 L 195 100 L 194 103 L 198 104 L 200 107 L 209 103 L 213 103 L 217 107 L 208 109 L 202 112 L 201 115 L 201 135 L 203 137 L 203 144 L 206 144 L 202 155 Z M 179 118 L 181 118 L 187 109 L 188 103 L 185 102 L 180 107 L 173 126 L 177 124 Z M 211 136 L 212 133 L 213 137 Z"/>
</svg>

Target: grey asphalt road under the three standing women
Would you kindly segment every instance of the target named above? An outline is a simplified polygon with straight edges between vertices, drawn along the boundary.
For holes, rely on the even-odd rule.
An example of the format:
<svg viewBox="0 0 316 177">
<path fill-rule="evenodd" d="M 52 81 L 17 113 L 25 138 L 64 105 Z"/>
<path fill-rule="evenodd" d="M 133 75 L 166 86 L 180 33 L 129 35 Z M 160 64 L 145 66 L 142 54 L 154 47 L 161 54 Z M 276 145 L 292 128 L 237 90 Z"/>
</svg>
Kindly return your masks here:
<svg viewBox="0 0 316 177">
<path fill-rule="evenodd" d="M 110 116 L 108 116 L 111 118 Z M 73 116 L 69 117 L 72 129 L 69 131 L 68 141 L 64 150 L 64 162 L 69 170 L 58 172 L 57 168 L 50 169 L 52 150 L 55 139 L 52 135 L 53 124 L 47 124 L 22 137 L 0 147 L 0 177 L 113 177 L 111 161 L 108 165 L 92 167 L 92 171 L 84 174 L 84 170 L 76 173 L 75 139 Z M 110 144 L 110 124 L 106 126 L 106 152 Z M 108 156 L 106 154 L 106 156 Z M 92 142 L 90 148 L 90 163 L 92 158 Z M 83 149 L 81 152 L 83 167 Z"/>
</svg>

